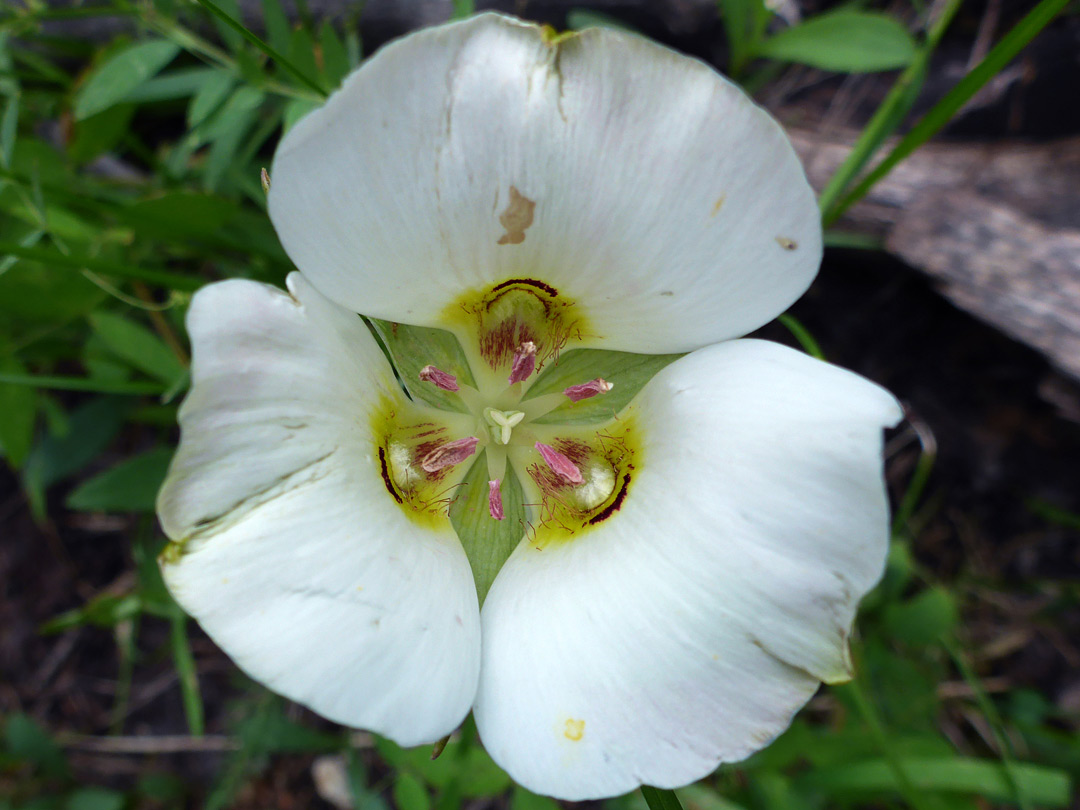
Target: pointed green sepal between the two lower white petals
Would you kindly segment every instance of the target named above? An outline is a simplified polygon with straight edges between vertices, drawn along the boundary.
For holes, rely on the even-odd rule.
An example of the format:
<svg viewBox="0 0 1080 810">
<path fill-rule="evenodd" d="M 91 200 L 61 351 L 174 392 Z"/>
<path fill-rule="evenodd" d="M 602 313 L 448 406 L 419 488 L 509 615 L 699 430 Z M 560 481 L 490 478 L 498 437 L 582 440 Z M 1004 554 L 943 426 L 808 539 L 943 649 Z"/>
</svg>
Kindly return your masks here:
<svg viewBox="0 0 1080 810">
<path fill-rule="evenodd" d="M 473 462 L 450 504 L 450 524 L 469 557 L 476 595 L 484 605 L 495 576 L 525 536 L 525 495 L 513 468 L 502 477 L 503 518 L 496 521 L 487 507 L 487 451 Z"/>
</svg>

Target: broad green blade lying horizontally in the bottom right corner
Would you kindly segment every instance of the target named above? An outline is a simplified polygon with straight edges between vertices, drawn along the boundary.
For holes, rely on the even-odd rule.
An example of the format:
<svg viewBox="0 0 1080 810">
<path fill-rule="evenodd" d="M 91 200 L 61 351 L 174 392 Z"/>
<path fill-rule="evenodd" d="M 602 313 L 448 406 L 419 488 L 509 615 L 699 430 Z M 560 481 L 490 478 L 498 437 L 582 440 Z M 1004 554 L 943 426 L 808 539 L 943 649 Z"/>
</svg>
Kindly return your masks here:
<svg viewBox="0 0 1080 810">
<path fill-rule="evenodd" d="M 905 758 L 901 762 L 912 782 L 923 791 L 970 793 L 991 801 L 1013 798 L 1005 766 L 1001 762 L 964 757 Z M 1071 791 L 1067 773 L 1029 764 L 1014 765 L 1009 771 L 1031 804 L 1069 806 Z M 880 759 L 820 768 L 798 780 L 798 785 L 800 789 L 824 791 L 836 798 L 896 791 L 893 772 Z"/>
</svg>

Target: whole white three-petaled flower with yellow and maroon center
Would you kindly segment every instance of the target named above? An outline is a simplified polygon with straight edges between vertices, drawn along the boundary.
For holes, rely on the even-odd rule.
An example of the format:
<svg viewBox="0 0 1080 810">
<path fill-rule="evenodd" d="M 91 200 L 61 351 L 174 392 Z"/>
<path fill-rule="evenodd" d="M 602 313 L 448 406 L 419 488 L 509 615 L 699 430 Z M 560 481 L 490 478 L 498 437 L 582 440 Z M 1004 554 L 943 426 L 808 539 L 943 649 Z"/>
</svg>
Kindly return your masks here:
<svg viewBox="0 0 1080 810">
<path fill-rule="evenodd" d="M 900 409 L 729 340 L 821 258 L 741 91 L 635 37 L 483 15 L 370 58 L 271 177 L 302 275 L 195 296 L 159 500 L 166 582 L 243 670 L 404 745 L 472 708 L 497 762 L 567 799 L 699 779 L 850 677 Z M 454 332 L 462 367 L 415 357 L 406 384 L 457 410 L 407 400 L 356 312 Z M 620 393 L 600 367 L 530 396 L 576 347 L 691 353 L 565 427 Z M 473 568 L 498 569 L 482 610 Z"/>
</svg>

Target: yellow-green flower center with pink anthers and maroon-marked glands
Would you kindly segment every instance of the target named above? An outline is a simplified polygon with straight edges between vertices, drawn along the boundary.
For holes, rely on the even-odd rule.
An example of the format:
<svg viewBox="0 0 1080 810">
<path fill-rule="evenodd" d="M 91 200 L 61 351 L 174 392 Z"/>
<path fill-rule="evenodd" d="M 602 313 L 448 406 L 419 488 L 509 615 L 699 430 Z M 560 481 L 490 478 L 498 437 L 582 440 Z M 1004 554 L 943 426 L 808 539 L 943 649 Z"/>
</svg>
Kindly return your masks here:
<svg viewBox="0 0 1080 810">
<path fill-rule="evenodd" d="M 512 279 L 462 298 L 451 310 L 447 320 L 463 356 L 436 349 L 415 360 L 442 356 L 463 376 L 437 362 L 413 374 L 457 399 L 460 413 L 402 406 L 384 444 L 383 480 L 391 495 L 405 509 L 449 516 L 470 555 L 470 549 L 502 542 L 502 535 L 504 551 L 523 535 L 539 546 L 566 540 L 618 511 L 635 458 L 639 462 L 636 419 L 633 411 L 604 416 L 600 408 L 599 416 L 591 411 L 590 423 L 572 408 L 612 390 L 602 377 L 575 378 L 575 361 L 559 368 L 561 350 L 583 334 L 572 301 L 548 284 Z M 543 392 L 530 396 L 538 380 Z M 411 408 L 418 417 L 410 422 L 403 415 Z M 569 423 L 558 423 L 553 411 L 559 408 Z M 474 572 L 487 565 L 473 563 Z"/>
</svg>

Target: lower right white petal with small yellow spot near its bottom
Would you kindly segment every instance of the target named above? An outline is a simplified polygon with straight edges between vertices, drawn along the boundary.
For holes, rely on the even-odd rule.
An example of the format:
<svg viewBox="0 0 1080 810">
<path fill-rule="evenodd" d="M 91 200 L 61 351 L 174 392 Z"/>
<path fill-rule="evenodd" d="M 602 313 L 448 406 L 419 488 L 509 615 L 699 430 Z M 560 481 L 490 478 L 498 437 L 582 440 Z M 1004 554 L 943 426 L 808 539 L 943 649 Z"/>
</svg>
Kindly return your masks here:
<svg viewBox="0 0 1080 810">
<path fill-rule="evenodd" d="M 644 444 L 621 510 L 523 543 L 482 613 L 484 744 L 566 799 L 679 786 L 770 742 L 847 677 L 888 545 L 881 428 L 900 409 L 853 374 L 732 341 L 620 416 Z"/>
</svg>

